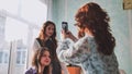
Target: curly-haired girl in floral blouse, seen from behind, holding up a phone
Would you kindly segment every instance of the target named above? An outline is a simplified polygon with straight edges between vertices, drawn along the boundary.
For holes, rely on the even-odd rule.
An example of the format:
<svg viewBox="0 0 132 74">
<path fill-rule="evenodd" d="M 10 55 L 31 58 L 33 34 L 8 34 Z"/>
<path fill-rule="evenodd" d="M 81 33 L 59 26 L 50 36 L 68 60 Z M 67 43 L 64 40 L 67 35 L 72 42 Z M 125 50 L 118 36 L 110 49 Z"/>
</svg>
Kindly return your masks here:
<svg viewBox="0 0 132 74">
<path fill-rule="evenodd" d="M 119 74 L 116 39 L 110 33 L 107 12 L 89 2 L 78 10 L 75 20 L 79 39 L 70 32 L 62 32 L 63 41 L 57 48 L 59 60 L 79 64 L 85 74 Z"/>
</svg>

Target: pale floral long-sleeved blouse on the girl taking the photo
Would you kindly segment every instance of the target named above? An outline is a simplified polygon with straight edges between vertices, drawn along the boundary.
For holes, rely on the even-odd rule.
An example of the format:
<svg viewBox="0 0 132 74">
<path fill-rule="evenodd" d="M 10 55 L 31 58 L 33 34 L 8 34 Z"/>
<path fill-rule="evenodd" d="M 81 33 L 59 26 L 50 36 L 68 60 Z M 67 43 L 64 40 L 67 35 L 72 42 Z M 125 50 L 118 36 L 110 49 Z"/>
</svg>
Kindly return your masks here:
<svg viewBox="0 0 132 74">
<path fill-rule="evenodd" d="M 63 40 L 57 54 L 62 62 L 79 64 L 84 74 L 119 74 L 114 52 L 111 55 L 99 53 L 95 38 L 87 35 L 77 42 L 68 38 Z"/>
</svg>

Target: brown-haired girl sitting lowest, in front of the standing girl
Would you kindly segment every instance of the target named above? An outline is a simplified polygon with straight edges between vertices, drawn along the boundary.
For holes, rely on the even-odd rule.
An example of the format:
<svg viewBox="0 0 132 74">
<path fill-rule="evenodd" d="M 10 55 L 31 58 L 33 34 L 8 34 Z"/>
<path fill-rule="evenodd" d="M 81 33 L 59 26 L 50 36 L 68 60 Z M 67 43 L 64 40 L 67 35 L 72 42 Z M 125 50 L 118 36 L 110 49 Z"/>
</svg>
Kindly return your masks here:
<svg viewBox="0 0 132 74">
<path fill-rule="evenodd" d="M 34 52 L 32 67 L 25 74 L 52 74 L 51 53 L 46 47 Z"/>
</svg>

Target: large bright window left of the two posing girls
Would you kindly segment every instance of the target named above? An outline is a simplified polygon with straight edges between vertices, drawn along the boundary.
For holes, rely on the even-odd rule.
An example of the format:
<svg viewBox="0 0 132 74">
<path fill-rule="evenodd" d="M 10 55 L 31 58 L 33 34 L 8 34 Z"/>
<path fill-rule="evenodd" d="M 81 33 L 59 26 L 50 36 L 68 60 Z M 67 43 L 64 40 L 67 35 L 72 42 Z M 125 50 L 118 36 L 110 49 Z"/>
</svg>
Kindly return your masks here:
<svg viewBox="0 0 132 74">
<path fill-rule="evenodd" d="M 0 74 L 23 74 L 26 64 L 31 62 L 28 61 L 29 48 L 42 23 L 46 21 L 47 5 L 41 0 L 1 0 L 0 15 L 1 11 L 4 11 L 6 18 L 0 20 L 0 24 L 3 22 L 2 26 L 0 25 L 0 40 L 4 39 L 8 44 L 22 40 L 25 47 L 13 42 L 11 54 L 10 50 L 0 51 L 0 65 L 10 65 L 0 66 Z"/>
</svg>

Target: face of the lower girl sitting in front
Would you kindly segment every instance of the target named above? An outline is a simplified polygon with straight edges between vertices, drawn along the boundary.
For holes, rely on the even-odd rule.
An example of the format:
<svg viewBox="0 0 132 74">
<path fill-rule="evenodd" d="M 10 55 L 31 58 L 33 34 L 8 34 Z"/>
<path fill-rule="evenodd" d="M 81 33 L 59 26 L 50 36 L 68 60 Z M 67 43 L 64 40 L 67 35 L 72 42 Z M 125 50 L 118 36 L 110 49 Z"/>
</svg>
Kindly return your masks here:
<svg viewBox="0 0 132 74">
<path fill-rule="evenodd" d="M 50 65 L 51 63 L 51 55 L 48 51 L 44 51 L 43 55 L 41 57 L 41 64 L 42 65 Z"/>
</svg>

